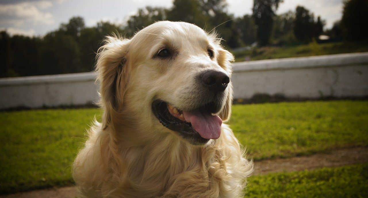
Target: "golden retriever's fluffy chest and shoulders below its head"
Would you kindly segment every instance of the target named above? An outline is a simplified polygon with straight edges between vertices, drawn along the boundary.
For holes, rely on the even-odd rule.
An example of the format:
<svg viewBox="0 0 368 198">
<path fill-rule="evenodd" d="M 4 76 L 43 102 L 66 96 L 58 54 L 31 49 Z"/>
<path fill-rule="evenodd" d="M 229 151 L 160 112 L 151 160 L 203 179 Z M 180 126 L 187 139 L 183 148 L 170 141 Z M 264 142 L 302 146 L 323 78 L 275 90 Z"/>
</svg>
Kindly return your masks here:
<svg viewBox="0 0 368 198">
<path fill-rule="evenodd" d="M 123 147 L 111 131 L 95 128 L 74 162 L 74 180 L 85 197 L 242 197 L 252 162 L 223 124 L 219 139 L 193 146 L 168 135 Z M 116 150 L 114 150 L 116 149 Z M 230 171 L 231 170 L 231 171 Z"/>
</svg>

